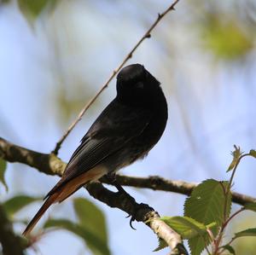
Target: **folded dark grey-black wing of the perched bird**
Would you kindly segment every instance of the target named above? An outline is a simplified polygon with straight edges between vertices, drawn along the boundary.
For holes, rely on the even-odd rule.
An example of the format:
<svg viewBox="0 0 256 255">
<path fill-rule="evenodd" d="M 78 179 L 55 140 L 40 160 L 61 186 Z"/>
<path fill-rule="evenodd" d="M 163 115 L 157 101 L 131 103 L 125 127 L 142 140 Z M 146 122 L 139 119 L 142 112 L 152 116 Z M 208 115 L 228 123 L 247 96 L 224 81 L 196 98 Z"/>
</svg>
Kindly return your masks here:
<svg viewBox="0 0 256 255">
<path fill-rule="evenodd" d="M 126 142 L 143 132 L 151 116 L 149 111 L 124 106 L 113 100 L 82 138 L 79 148 L 67 164 L 61 181 L 46 197 L 53 194 L 56 188 L 79 177 L 125 147 Z"/>
</svg>

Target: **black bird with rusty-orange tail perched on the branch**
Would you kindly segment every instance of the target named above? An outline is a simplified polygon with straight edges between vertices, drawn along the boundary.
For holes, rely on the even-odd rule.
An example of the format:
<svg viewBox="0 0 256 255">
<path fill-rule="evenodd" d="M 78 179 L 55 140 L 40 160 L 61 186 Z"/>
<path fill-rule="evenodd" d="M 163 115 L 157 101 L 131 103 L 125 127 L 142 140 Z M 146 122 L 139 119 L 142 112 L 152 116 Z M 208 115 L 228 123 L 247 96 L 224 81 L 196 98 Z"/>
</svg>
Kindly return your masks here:
<svg viewBox="0 0 256 255">
<path fill-rule="evenodd" d="M 142 65 L 124 67 L 117 76 L 117 96 L 91 125 L 69 160 L 61 180 L 27 225 L 28 235 L 44 212 L 86 183 L 145 157 L 166 128 L 166 97 L 160 82 Z"/>
</svg>

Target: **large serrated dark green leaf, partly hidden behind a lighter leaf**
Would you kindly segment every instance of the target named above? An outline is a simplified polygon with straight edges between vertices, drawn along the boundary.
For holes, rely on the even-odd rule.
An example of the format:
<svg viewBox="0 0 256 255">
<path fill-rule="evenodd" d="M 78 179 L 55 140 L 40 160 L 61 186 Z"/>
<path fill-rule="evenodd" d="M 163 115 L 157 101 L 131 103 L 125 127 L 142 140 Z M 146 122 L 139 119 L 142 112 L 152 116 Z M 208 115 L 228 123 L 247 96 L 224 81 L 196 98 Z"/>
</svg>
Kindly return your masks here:
<svg viewBox="0 0 256 255">
<path fill-rule="evenodd" d="M 184 215 L 192 217 L 207 225 L 216 223 L 212 228 L 212 234 L 216 235 L 218 228 L 224 221 L 224 188 L 228 182 L 218 182 L 209 179 L 193 189 L 191 196 L 185 201 Z M 231 194 L 228 194 L 226 217 L 230 215 Z M 207 241 L 208 243 L 209 241 Z M 205 241 L 201 236 L 189 240 L 189 248 L 192 255 L 199 255 L 205 248 Z"/>
</svg>

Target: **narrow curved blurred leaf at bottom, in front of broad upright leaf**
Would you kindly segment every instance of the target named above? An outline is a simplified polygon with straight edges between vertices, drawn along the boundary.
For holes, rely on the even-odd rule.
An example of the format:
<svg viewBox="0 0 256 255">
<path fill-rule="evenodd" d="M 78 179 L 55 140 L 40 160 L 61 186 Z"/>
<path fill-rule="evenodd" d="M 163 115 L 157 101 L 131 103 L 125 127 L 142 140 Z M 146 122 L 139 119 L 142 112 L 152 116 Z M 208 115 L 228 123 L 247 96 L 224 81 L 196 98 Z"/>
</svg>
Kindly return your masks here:
<svg viewBox="0 0 256 255">
<path fill-rule="evenodd" d="M 110 255 L 108 246 L 106 243 L 90 232 L 88 229 L 84 229 L 83 226 L 78 223 L 73 223 L 67 219 L 49 219 L 44 223 L 44 228 L 56 228 L 56 229 L 66 229 L 75 235 L 78 235 L 84 241 L 90 250 L 95 255 Z"/>
</svg>

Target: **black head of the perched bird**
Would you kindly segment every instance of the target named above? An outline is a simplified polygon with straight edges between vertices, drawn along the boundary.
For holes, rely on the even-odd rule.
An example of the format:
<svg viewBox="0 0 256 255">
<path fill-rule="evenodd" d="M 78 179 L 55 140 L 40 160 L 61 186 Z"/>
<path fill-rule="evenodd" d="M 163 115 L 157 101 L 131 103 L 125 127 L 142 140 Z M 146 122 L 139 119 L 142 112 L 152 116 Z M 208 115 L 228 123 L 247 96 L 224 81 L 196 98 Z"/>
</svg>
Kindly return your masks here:
<svg viewBox="0 0 256 255">
<path fill-rule="evenodd" d="M 117 76 L 117 98 L 132 105 L 147 105 L 154 102 L 160 82 L 142 65 L 124 67 Z"/>
</svg>

